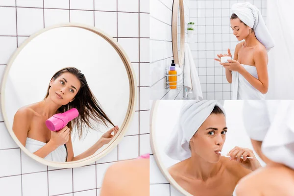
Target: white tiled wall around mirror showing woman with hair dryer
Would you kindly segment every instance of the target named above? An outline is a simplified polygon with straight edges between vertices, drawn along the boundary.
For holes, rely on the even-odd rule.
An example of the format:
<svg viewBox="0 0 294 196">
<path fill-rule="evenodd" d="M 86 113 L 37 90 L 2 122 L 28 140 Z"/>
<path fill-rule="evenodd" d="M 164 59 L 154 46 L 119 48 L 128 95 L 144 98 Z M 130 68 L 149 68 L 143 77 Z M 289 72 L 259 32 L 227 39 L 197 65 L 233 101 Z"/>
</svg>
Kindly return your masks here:
<svg viewBox="0 0 294 196">
<path fill-rule="evenodd" d="M 118 147 L 96 163 L 56 169 L 22 152 L 0 115 L 1 196 L 98 196 L 111 164 L 149 152 L 149 0 L 0 0 L 0 76 L 25 39 L 44 27 L 67 22 L 94 25 L 126 51 L 138 85 L 133 120 Z"/>
</svg>

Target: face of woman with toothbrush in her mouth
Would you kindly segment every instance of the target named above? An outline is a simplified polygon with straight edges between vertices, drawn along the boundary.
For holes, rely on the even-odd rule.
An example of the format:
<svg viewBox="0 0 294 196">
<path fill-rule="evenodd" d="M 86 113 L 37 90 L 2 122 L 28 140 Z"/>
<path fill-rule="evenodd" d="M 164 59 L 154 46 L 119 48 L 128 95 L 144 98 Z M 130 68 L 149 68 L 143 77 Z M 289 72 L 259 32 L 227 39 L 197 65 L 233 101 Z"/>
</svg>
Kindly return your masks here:
<svg viewBox="0 0 294 196">
<path fill-rule="evenodd" d="M 221 158 L 218 152 L 223 147 L 226 131 L 225 116 L 211 114 L 191 139 L 192 154 L 196 153 L 210 163 L 217 163 Z"/>
</svg>

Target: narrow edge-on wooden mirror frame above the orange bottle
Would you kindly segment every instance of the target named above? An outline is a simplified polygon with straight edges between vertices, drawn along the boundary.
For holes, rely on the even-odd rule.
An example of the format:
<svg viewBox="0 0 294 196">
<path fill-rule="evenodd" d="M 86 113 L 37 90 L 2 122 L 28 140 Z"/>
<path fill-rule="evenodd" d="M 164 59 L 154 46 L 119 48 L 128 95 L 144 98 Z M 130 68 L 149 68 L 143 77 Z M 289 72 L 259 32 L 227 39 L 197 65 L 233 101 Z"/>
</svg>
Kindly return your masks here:
<svg viewBox="0 0 294 196">
<path fill-rule="evenodd" d="M 180 40 L 180 55 L 178 55 L 178 36 L 177 36 L 177 19 L 178 9 L 180 8 L 180 21 L 181 21 L 181 40 Z M 185 13 L 183 0 L 173 0 L 172 5 L 172 53 L 174 63 L 180 67 L 184 64 L 185 53 Z"/>
</svg>

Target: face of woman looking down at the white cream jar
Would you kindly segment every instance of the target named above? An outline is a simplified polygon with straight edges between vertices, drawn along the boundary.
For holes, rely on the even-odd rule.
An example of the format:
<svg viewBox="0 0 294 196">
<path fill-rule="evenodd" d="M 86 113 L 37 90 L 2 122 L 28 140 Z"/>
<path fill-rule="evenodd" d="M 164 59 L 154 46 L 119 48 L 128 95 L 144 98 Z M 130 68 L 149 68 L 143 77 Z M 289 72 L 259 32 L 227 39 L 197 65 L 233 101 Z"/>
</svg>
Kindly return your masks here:
<svg viewBox="0 0 294 196">
<path fill-rule="evenodd" d="M 231 19 L 231 28 L 238 41 L 244 40 L 249 35 L 251 30 L 249 26 L 246 26 L 238 18 Z"/>
</svg>

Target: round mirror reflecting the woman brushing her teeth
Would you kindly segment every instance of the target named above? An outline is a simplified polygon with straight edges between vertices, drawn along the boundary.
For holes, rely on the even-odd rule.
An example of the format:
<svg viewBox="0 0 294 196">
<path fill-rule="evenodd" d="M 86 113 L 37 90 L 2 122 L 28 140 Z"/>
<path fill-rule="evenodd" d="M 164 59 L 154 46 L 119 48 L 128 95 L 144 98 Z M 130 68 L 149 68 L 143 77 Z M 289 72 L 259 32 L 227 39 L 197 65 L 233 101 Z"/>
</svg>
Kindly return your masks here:
<svg viewBox="0 0 294 196">
<path fill-rule="evenodd" d="M 199 106 L 201 111 L 194 105 L 188 105 L 189 107 L 185 108 L 186 110 L 191 108 L 190 111 L 181 113 L 187 101 L 191 101 L 191 105 L 195 102 L 195 100 L 157 100 L 153 102 L 150 113 L 150 144 L 158 168 L 171 185 L 185 196 L 203 194 L 232 196 L 240 177 L 252 172 L 246 168 L 245 162 L 242 165 L 226 157 L 227 153 L 235 147 L 253 150 L 242 116 L 244 102 L 219 101 L 223 105 L 225 117 L 219 112 L 220 110 L 216 109 L 213 115 L 208 115 L 212 116 L 210 118 L 206 116 L 204 103 L 200 103 L 202 104 Z M 181 116 L 184 116 L 185 119 L 181 119 L 183 123 L 178 124 Z M 191 118 L 193 123 L 187 121 Z M 191 125 L 198 127 L 197 121 L 204 118 L 206 120 L 201 123 L 199 129 L 190 128 Z M 183 124 L 188 124 L 189 127 Z M 197 133 L 194 132 L 195 129 Z M 191 135 L 194 135 L 187 144 L 183 141 L 186 140 L 190 130 Z M 218 154 L 216 149 L 221 150 L 221 154 Z M 255 154 L 254 159 L 247 159 L 247 161 L 258 161 L 261 166 L 265 166 L 254 150 L 253 153 Z M 210 174 L 207 172 L 209 168 L 217 168 L 220 165 L 221 170 L 212 173 L 213 177 L 209 175 L 209 178 L 205 178 L 205 173 Z M 198 177 L 201 174 L 207 179 L 205 182 L 209 185 Z"/>
</svg>

